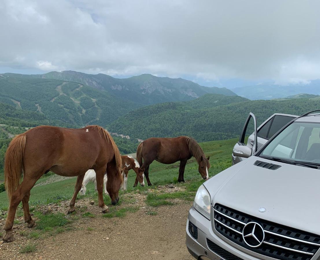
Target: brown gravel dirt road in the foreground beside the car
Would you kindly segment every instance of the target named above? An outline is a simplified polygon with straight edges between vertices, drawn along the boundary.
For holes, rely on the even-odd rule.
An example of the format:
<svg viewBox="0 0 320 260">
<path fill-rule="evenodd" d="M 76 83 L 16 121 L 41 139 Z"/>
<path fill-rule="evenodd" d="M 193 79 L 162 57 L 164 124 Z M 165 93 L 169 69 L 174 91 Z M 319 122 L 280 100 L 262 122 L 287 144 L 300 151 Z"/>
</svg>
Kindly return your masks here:
<svg viewBox="0 0 320 260">
<path fill-rule="evenodd" d="M 19 253 L 19 239 L 1 244 L 0 259 L 191 260 L 185 246 L 190 206 L 184 201 L 156 208 L 157 215 L 147 215 L 148 207 L 141 207 L 124 218 L 80 218 L 72 230 L 36 240 L 34 253 Z M 92 210 L 98 213 L 96 205 Z"/>
</svg>

